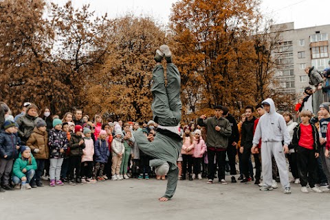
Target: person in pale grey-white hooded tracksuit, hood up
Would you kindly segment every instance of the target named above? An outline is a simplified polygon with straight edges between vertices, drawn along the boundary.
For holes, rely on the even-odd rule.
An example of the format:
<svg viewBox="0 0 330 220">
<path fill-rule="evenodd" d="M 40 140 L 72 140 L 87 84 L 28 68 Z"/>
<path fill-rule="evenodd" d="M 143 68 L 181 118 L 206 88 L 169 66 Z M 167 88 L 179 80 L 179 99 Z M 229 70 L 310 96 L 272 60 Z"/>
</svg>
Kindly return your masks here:
<svg viewBox="0 0 330 220">
<path fill-rule="evenodd" d="M 272 191 L 272 155 L 276 160 L 278 172 L 280 173 L 281 184 L 285 194 L 290 194 L 289 173 L 285 154 L 289 152 L 289 143 L 291 142 L 287 125 L 281 114 L 276 112 L 273 99 L 265 99 L 262 103 L 265 114 L 259 119 L 254 133 L 253 146 L 251 151 L 256 150 L 261 138 L 261 159 L 263 169 L 263 186 L 261 191 Z M 282 141 L 284 139 L 284 145 Z"/>
</svg>

